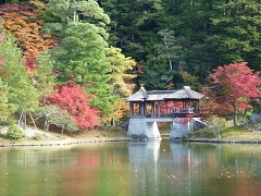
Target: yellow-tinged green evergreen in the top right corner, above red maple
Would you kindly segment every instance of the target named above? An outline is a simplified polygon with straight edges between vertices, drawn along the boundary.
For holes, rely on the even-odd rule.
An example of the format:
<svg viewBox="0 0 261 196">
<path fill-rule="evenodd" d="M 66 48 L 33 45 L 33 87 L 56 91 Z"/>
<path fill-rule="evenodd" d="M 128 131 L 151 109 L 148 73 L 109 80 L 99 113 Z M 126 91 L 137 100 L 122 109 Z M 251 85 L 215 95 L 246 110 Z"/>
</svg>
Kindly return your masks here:
<svg viewBox="0 0 261 196">
<path fill-rule="evenodd" d="M 212 23 L 219 28 L 219 50 L 225 63 L 248 61 L 260 70 L 261 2 L 257 0 L 219 1 Z"/>
</svg>

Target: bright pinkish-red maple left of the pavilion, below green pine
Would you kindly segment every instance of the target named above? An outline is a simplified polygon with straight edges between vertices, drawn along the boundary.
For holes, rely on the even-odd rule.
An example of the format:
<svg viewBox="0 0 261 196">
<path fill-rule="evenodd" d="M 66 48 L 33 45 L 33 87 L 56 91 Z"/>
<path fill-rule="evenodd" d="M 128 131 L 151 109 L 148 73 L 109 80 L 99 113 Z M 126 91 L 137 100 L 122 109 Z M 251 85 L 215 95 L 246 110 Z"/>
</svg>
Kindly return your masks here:
<svg viewBox="0 0 261 196">
<path fill-rule="evenodd" d="M 75 83 L 69 83 L 57 86 L 58 93 L 49 97 L 49 103 L 58 105 L 66 110 L 75 120 L 79 128 L 92 128 L 100 125 L 99 110 L 89 106 L 89 99 L 86 93 Z"/>
</svg>

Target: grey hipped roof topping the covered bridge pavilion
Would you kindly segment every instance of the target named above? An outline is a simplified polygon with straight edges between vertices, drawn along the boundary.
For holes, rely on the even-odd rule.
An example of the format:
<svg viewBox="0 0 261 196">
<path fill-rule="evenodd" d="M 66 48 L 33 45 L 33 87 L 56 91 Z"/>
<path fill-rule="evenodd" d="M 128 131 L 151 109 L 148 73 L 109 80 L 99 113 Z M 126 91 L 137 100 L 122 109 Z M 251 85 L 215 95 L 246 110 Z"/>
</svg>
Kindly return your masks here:
<svg viewBox="0 0 261 196">
<path fill-rule="evenodd" d="M 185 86 L 184 89 L 179 90 L 151 90 L 147 91 L 145 88 L 140 88 L 139 91 L 126 98 L 128 102 L 140 102 L 144 100 L 147 101 L 160 101 L 166 99 L 201 99 L 202 94 L 199 94 L 195 90 L 191 90 L 190 87 Z"/>
</svg>

